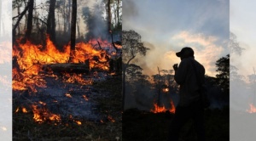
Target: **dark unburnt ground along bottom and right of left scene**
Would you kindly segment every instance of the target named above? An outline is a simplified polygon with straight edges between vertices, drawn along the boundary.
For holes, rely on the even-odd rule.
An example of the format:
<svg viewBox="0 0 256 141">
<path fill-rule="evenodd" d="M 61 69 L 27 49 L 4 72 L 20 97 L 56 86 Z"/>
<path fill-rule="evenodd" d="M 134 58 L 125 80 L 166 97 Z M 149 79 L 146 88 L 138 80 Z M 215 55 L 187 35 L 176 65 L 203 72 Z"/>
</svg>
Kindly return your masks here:
<svg viewBox="0 0 256 141">
<path fill-rule="evenodd" d="M 91 85 L 98 93 L 108 96 L 96 96 L 97 113 L 102 117 L 101 121 L 79 119 L 81 125 L 73 121 L 60 122 L 45 121 L 38 123 L 33 120 L 32 110 L 27 113 L 15 112 L 15 107 L 20 104 L 14 102 L 13 111 L 13 140 L 38 140 L 38 141 L 70 141 L 70 140 L 98 140 L 114 141 L 122 138 L 122 96 L 121 75 L 109 77 L 102 82 Z M 24 105 L 24 104 L 23 104 Z"/>
</svg>

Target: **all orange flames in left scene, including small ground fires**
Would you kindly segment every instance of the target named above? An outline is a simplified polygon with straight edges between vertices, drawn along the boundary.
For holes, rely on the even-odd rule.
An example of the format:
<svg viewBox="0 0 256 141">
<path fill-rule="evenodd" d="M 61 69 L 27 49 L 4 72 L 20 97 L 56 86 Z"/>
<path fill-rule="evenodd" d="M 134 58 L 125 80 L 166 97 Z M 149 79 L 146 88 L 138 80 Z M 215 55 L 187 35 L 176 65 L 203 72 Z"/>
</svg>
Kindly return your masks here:
<svg viewBox="0 0 256 141">
<path fill-rule="evenodd" d="M 12 70 L 12 86 L 13 90 L 26 91 L 30 94 L 38 93 L 38 87 L 47 87 L 45 78 L 51 77 L 55 80 L 60 80 L 63 83 L 79 83 L 80 85 L 91 85 L 94 81 L 92 76 L 84 76 L 83 74 L 61 72 L 60 75 L 56 75 L 54 69 L 51 69 L 51 65 L 60 64 L 82 64 L 86 66 L 86 70 L 99 69 L 102 71 L 108 71 L 109 60 L 112 57 L 118 57 L 118 53 L 114 53 L 115 49 L 108 41 L 102 41 L 102 39 L 90 40 L 90 42 L 79 42 L 75 45 L 75 54 L 73 54 L 73 60 L 70 58 L 70 45 L 66 45 L 61 49 L 55 47 L 55 44 L 49 40 L 47 36 L 46 44 L 36 45 L 32 42 L 26 41 L 25 44 L 17 41 L 17 44 L 13 46 L 13 70 Z M 121 48 L 119 46 L 118 48 Z M 47 72 L 47 73 L 46 73 Z M 90 74 L 91 75 L 91 74 Z M 0 77 L 0 81 L 1 81 Z M 65 86 L 66 87 L 66 86 Z M 73 90 L 69 90 L 71 92 Z M 40 91 L 39 91 L 40 92 Z M 65 96 L 72 98 L 70 93 L 65 93 Z M 89 100 L 86 95 L 83 95 L 84 100 Z M 58 101 L 54 100 L 57 103 Z M 38 123 L 53 121 L 55 124 L 61 121 L 61 116 L 51 113 L 46 106 L 46 103 L 38 101 L 31 105 L 33 119 Z M 17 113 L 21 110 L 23 113 L 27 113 L 26 108 L 18 107 L 15 110 Z M 70 117 L 72 118 L 72 116 Z M 109 121 L 113 121 L 111 116 L 108 117 Z M 73 120 L 78 125 L 81 125 L 81 121 Z"/>
</svg>

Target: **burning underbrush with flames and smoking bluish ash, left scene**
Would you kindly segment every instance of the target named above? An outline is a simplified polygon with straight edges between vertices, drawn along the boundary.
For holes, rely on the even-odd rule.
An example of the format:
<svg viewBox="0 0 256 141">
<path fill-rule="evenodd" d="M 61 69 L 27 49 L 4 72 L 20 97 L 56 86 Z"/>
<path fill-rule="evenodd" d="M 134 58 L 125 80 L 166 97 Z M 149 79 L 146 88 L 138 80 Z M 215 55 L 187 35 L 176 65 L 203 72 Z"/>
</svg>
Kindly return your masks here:
<svg viewBox="0 0 256 141">
<path fill-rule="evenodd" d="M 112 98 L 111 93 L 108 92 L 109 90 L 102 91 L 100 88 L 95 88 L 98 83 L 106 83 L 109 79 L 115 80 L 120 77 L 116 67 L 116 60 L 120 58 L 119 52 L 114 50 L 112 44 L 108 42 L 90 41 L 76 44 L 76 54 L 71 62 L 69 55 L 68 45 L 63 47 L 63 51 L 59 51 L 49 39 L 45 47 L 31 42 L 18 43 L 14 46 L 15 136 L 20 138 L 19 133 L 15 132 L 20 131 L 20 121 L 25 119 L 31 122 L 27 124 L 36 125 L 36 127 L 42 125 L 38 127 L 40 130 L 44 130 L 46 125 L 66 130 L 69 127 L 79 128 L 88 124 L 90 124 L 88 127 L 96 126 L 97 129 L 107 124 L 119 124 L 115 122 L 119 122 L 120 111 L 119 115 L 113 114 L 109 111 L 111 109 L 109 106 L 109 109 L 103 112 L 99 100 Z M 117 87 L 119 89 L 121 86 L 117 85 Z M 121 98 L 118 100 L 121 101 Z M 32 127 L 26 129 L 31 131 Z M 61 129 L 58 128 L 58 130 Z M 86 133 L 93 132 L 96 131 L 92 129 L 86 131 Z M 36 134 L 33 136 L 33 138 L 39 138 Z M 90 134 L 83 136 L 88 138 Z"/>
</svg>

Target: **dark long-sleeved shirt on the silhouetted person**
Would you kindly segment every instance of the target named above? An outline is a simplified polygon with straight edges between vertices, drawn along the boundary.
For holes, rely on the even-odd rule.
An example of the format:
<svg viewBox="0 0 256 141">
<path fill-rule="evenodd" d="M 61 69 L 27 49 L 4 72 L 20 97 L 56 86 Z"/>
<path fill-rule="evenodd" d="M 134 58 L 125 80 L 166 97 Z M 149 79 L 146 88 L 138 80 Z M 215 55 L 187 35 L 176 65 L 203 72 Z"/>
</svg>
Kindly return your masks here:
<svg viewBox="0 0 256 141">
<path fill-rule="evenodd" d="M 195 71 L 197 71 L 197 74 Z M 183 59 L 174 75 L 175 81 L 180 85 L 178 105 L 188 106 L 200 99 L 200 93 L 198 92 L 200 86 L 196 80 L 198 78 L 201 79 L 201 83 L 205 82 L 205 68 L 203 65 L 197 62 L 194 57 Z"/>
</svg>

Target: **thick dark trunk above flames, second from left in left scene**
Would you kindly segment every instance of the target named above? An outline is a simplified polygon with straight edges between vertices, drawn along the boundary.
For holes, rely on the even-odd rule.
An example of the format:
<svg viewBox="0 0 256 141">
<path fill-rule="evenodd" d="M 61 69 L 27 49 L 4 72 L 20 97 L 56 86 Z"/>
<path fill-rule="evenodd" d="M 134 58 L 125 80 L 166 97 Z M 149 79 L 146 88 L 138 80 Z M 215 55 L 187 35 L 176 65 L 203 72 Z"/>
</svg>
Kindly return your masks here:
<svg viewBox="0 0 256 141">
<path fill-rule="evenodd" d="M 55 43 L 55 3 L 56 0 L 49 1 L 49 14 L 47 19 L 47 34 L 49 39 Z"/>
</svg>

